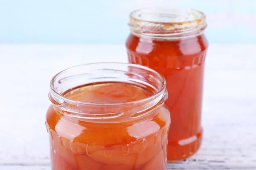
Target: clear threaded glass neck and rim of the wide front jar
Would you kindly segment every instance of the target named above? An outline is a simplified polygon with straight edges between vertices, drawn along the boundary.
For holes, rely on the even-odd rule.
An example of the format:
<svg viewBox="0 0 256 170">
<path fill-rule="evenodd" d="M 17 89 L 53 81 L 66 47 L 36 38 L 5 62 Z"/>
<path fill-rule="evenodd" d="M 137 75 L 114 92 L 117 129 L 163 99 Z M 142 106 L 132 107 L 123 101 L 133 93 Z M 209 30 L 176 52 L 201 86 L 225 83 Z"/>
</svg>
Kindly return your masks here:
<svg viewBox="0 0 256 170">
<path fill-rule="evenodd" d="M 107 104 L 81 102 L 64 96 L 70 89 L 104 82 L 137 85 L 153 94 L 134 102 Z M 162 107 L 168 97 L 163 76 L 150 68 L 124 63 L 79 65 L 57 74 L 50 85 L 49 99 L 55 111 L 86 122 L 114 123 L 142 119 Z"/>
</svg>

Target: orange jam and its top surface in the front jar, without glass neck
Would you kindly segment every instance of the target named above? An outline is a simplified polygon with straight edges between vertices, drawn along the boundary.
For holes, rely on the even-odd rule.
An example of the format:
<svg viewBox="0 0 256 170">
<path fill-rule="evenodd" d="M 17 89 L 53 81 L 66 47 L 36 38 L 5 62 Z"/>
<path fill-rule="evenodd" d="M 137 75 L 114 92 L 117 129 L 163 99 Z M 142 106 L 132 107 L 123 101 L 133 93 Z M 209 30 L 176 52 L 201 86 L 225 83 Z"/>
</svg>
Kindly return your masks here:
<svg viewBox="0 0 256 170">
<path fill-rule="evenodd" d="M 134 102 L 151 95 L 151 91 L 125 83 L 86 85 L 63 94 L 96 104 Z M 91 123 L 50 106 L 46 125 L 52 170 L 166 170 L 169 111 L 160 107 L 151 115 L 139 121 Z"/>
</svg>

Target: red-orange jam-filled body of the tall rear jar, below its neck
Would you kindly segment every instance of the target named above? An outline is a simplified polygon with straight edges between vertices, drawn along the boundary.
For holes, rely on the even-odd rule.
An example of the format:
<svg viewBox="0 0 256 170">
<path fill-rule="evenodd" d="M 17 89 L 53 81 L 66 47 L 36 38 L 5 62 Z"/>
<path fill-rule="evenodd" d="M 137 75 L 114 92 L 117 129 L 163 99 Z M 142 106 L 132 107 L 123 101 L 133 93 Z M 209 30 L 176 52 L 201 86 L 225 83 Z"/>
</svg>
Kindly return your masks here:
<svg viewBox="0 0 256 170">
<path fill-rule="evenodd" d="M 147 66 L 165 77 L 169 93 L 166 105 L 172 119 L 167 160 L 186 159 L 199 149 L 202 141 L 206 37 L 200 34 L 176 40 L 157 40 L 131 33 L 126 48 L 130 63 Z"/>
</svg>

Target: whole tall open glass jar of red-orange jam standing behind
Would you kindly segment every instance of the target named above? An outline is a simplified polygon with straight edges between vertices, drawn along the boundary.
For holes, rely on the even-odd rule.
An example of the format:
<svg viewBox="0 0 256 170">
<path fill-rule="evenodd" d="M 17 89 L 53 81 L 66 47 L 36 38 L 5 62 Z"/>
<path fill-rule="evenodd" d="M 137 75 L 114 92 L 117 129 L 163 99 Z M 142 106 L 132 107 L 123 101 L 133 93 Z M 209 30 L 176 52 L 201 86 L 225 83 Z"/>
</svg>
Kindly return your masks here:
<svg viewBox="0 0 256 170">
<path fill-rule="evenodd" d="M 167 160 L 186 159 L 202 141 L 205 15 L 193 9 L 146 8 L 130 14 L 129 26 L 129 62 L 152 68 L 166 79 L 172 119 Z"/>
</svg>

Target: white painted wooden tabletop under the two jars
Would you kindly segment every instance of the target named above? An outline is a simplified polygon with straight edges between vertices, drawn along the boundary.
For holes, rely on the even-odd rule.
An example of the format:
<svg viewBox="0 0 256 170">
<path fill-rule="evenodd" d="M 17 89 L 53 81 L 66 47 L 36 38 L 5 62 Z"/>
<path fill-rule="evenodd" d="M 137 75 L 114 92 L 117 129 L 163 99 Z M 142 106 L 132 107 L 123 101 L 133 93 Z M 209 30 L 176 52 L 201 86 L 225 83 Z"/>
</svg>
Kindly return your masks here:
<svg viewBox="0 0 256 170">
<path fill-rule="evenodd" d="M 169 170 L 256 170 L 256 45 L 211 44 L 200 151 Z M 0 170 L 50 170 L 49 81 L 87 62 L 126 62 L 123 45 L 0 45 Z"/>
</svg>

